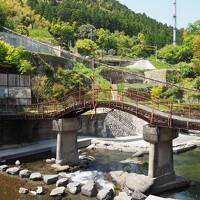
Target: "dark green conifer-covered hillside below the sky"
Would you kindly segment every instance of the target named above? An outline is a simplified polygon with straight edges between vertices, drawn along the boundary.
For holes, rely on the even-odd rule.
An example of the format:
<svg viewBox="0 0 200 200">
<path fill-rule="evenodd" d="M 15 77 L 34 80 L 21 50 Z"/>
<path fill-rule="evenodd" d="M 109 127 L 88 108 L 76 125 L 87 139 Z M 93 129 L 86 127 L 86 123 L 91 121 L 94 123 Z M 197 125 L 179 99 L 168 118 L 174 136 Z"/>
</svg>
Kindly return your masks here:
<svg viewBox="0 0 200 200">
<path fill-rule="evenodd" d="M 129 36 L 143 33 L 146 43 L 162 47 L 172 42 L 172 27 L 157 22 L 145 14 L 136 14 L 116 0 L 27 0 L 28 5 L 49 21 L 92 24 Z M 182 31 L 178 31 L 179 43 Z"/>
</svg>

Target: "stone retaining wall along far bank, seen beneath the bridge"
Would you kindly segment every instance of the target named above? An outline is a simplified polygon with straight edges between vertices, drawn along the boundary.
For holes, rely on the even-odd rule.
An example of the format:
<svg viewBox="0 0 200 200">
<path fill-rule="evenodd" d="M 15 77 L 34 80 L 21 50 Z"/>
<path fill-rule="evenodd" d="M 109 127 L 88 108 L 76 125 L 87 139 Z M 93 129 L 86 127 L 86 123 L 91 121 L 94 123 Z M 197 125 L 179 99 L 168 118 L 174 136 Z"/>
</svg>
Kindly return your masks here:
<svg viewBox="0 0 200 200">
<path fill-rule="evenodd" d="M 93 116 L 82 115 L 79 121 L 81 123 L 79 135 L 105 138 L 142 134 L 143 125 L 146 124 L 137 117 L 121 111 Z M 51 120 L 0 121 L 0 146 L 53 138 L 56 138 L 56 132 L 52 131 Z"/>
</svg>

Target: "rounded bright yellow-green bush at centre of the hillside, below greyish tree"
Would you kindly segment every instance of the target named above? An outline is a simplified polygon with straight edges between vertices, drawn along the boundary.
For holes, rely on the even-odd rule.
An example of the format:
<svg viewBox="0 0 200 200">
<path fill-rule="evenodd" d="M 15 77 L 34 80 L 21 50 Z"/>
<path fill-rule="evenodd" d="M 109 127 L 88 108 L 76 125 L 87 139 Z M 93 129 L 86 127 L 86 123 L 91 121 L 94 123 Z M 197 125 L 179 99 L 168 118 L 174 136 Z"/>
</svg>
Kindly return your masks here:
<svg viewBox="0 0 200 200">
<path fill-rule="evenodd" d="M 78 49 L 78 52 L 85 56 L 88 56 L 88 55 L 94 56 L 95 51 L 98 48 L 97 44 L 90 39 L 78 40 L 76 42 L 76 47 Z"/>
</svg>

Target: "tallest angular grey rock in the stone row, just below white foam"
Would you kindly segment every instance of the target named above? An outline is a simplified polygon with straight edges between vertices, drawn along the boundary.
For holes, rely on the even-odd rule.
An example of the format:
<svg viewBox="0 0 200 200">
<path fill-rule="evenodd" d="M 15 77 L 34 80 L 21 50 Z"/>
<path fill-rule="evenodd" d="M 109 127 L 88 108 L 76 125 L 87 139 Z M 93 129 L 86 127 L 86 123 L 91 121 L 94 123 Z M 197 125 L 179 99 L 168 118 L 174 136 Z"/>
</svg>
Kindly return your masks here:
<svg viewBox="0 0 200 200">
<path fill-rule="evenodd" d="M 93 180 L 88 181 L 81 188 L 81 193 L 88 197 L 96 197 L 97 195 L 97 187 L 96 183 Z"/>
</svg>

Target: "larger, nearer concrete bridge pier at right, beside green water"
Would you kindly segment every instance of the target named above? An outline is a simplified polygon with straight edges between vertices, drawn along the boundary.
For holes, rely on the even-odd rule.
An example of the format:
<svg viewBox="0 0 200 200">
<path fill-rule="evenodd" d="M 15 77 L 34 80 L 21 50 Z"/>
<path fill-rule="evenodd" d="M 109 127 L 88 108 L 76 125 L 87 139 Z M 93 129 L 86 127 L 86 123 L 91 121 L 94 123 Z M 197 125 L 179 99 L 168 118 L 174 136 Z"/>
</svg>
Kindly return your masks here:
<svg viewBox="0 0 200 200">
<path fill-rule="evenodd" d="M 146 125 L 143 128 L 143 137 L 150 143 L 148 175 L 154 178 L 154 186 L 174 181 L 176 176 L 172 141 L 178 137 L 178 131 Z"/>
</svg>

